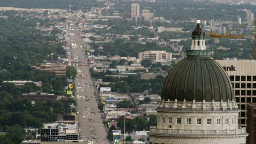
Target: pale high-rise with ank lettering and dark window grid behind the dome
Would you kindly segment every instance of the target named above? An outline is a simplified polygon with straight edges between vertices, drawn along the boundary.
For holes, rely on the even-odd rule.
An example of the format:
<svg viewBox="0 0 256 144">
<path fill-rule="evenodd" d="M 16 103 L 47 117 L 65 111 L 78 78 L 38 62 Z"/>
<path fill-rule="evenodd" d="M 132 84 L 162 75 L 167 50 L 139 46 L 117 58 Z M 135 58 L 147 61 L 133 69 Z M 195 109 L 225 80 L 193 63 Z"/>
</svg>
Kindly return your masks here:
<svg viewBox="0 0 256 144">
<path fill-rule="evenodd" d="M 216 60 L 226 70 L 241 109 L 239 126 L 246 127 L 248 103 L 256 103 L 256 60 Z"/>
</svg>

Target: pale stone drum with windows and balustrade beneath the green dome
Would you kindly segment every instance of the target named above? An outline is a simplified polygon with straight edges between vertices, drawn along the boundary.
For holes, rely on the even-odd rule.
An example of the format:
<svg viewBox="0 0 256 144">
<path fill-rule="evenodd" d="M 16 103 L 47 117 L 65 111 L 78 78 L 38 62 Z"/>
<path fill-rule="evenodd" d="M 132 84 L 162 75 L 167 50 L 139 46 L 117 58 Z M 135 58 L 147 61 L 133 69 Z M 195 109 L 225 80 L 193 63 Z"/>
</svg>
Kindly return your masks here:
<svg viewBox="0 0 256 144">
<path fill-rule="evenodd" d="M 238 128 L 238 106 L 231 102 L 160 101 L 157 127 L 150 143 L 245 144 L 246 128 Z"/>
</svg>

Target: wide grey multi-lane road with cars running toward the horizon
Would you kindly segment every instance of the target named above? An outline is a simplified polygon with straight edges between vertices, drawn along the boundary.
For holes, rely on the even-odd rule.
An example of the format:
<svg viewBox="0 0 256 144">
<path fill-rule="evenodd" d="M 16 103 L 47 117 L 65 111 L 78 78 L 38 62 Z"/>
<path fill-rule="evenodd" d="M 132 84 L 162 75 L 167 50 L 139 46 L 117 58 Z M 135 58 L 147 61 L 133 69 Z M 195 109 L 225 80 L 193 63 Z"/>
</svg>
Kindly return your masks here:
<svg viewBox="0 0 256 144">
<path fill-rule="evenodd" d="M 100 110 L 98 110 L 98 103 L 96 102 L 96 96 L 94 96 L 95 89 L 92 79 L 90 78 L 90 67 L 88 66 L 90 64 L 84 63 L 87 62 L 87 58 L 85 56 L 82 38 L 80 37 L 80 30 L 75 24 L 77 20 L 71 18 L 70 21 L 72 21 L 71 24 L 73 24 L 68 26 L 70 46 L 72 46 L 73 43 L 71 48 L 72 60 L 73 62 L 83 62 L 78 64 L 81 66 L 76 66 L 76 63 L 72 64 L 75 65 L 78 70 L 78 74 L 76 78 L 74 78 L 74 83 L 76 86 L 75 98 L 78 104 L 77 111 L 80 112 L 77 114 L 78 122 L 80 123 L 80 126 L 78 126 L 79 135 L 80 138 L 93 141 L 94 144 L 109 144 L 106 139 L 107 133 L 103 119 L 101 118 L 102 114 L 99 114 Z M 84 78 L 86 75 L 88 75 L 89 78 Z M 92 114 L 92 112 L 95 112 L 95 114 Z"/>
</svg>

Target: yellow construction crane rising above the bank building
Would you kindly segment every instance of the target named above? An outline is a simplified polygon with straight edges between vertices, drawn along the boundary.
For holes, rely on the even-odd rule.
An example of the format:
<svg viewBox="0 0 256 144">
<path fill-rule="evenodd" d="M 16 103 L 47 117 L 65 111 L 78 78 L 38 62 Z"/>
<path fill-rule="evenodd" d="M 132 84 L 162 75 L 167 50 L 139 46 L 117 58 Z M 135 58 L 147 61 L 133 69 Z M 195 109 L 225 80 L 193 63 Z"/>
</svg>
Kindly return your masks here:
<svg viewBox="0 0 256 144">
<path fill-rule="evenodd" d="M 253 22 L 255 22 L 255 28 L 254 28 L 255 32 L 254 32 L 254 36 L 253 37 L 254 37 L 254 60 L 256 60 L 256 20 L 254 20 L 252 22 L 249 22 L 248 24 L 251 24 Z M 247 26 L 248 24 L 245 24 L 245 25 L 240 26 L 238 28 L 242 28 L 244 26 Z M 228 33 L 232 32 L 234 30 L 237 30 L 238 28 L 230 30 L 230 31 L 228 31 L 228 32 L 226 32 L 224 34 L 214 34 L 214 33 L 210 32 L 210 37 L 211 38 L 215 38 L 215 40 L 214 40 L 215 43 L 219 43 L 219 38 L 246 38 L 246 36 L 230 36 L 230 35 L 227 35 Z M 250 37 L 252 37 L 252 36 L 250 36 Z"/>
</svg>

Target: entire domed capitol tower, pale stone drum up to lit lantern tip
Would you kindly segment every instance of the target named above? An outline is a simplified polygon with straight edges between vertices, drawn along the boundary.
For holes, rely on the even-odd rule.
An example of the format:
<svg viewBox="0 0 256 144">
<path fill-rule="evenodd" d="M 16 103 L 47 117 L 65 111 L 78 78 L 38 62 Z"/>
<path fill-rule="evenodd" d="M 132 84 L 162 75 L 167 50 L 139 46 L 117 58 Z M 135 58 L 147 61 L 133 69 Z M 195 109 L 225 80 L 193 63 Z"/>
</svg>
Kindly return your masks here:
<svg viewBox="0 0 256 144">
<path fill-rule="evenodd" d="M 197 23 L 186 58 L 166 76 L 157 126 L 147 133 L 150 144 L 246 144 L 230 78 L 210 58 Z"/>
</svg>

